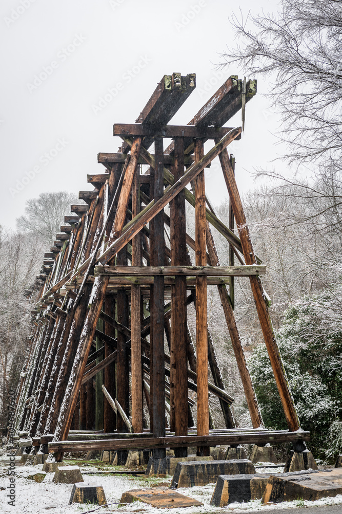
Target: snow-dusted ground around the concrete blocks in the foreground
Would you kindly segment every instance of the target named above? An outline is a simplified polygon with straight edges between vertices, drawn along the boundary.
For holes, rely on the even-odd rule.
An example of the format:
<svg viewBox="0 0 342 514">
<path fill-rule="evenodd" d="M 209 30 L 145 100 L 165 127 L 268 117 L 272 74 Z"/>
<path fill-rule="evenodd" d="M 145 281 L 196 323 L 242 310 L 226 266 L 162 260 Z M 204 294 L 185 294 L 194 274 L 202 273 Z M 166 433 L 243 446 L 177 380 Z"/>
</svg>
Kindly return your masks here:
<svg viewBox="0 0 342 514">
<path fill-rule="evenodd" d="M 70 462 L 75 464 L 75 461 Z M 101 466 L 102 469 L 106 469 L 107 466 Z M 70 494 L 72 491 L 72 484 L 54 484 L 52 482 L 53 473 L 48 473 L 44 481 L 40 484 L 29 480 L 27 477 L 38 471 L 41 471 L 42 465 L 39 466 L 16 466 L 16 480 L 15 480 L 15 507 L 7 504 L 9 479 L 7 475 L 8 465 L 0 464 L 0 512 L 10 512 L 12 514 L 38 514 L 41 512 L 49 514 L 64 514 L 77 512 L 82 514 L 89 510 L 98 509 L 95 505 L 80 505 L 72 504 L 69 505 Z M 107 468 L 109 469 L 109 468 Z M 113 468 L 111 468 L 113 469 Z M 96 471 L 98 467 L 92 465 L 81 466 L 83 472 Z M 258 472 L 264 473 L 275 473 L 282 471 L 283 468 L 264 468 L 258 470 Z M 164 514 L 184 514 L 185 509 L 156 509 L 145 503 L 134 502 L 130 505 L 118 506 L 121 495 L 123 492 L 129 489 L 135 489 L 138 487 L 151 487 L 154 485 L 169 485 L 171 484 L 171 477 L 167 478 L 145 478 L 144 475 L 130 476 L 130 475 L 87 475 L 84 474 L 85 483 L 102 485 L 106 494 L 108 507 L 102 507 L 96 510 L 98 514 L 105 514 L 107 512 L 149 512 L 157 514 L 163 512 Z M 243 512 L 263 511 L 267 514 L 267 511 L 274 508 L 290 508 L 290 507 L 309 507 L 313 505 L 342 505 L 342 495 L 338 495 L 335 498 L 325 498 L 316 502 L 307 501 L 295 501 L 295 502 L 284 502 L 277 505 L 261 505 L 260 500 L 253 500 L 248 503 L 232 503 L 226 507 L 211 507 L 209 505 L 215 484 L 208 484 L 205 487 L 193 487 L 179 488 L 177 492 L 186 494 L 195 500 L 198 500 L 204 504 L 203 507 L 191 507 L 191 514 L 202 514 L 202 513 L 219 513 L 234 511 L 236 514 L 242 514 Z M 5 490 L 3 490 L 5 488 Z M 190 510 L 188 510 L 190 512 Z"/>
</svg>

